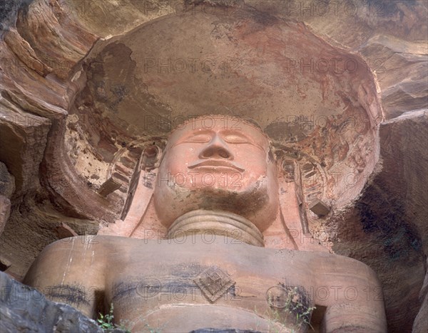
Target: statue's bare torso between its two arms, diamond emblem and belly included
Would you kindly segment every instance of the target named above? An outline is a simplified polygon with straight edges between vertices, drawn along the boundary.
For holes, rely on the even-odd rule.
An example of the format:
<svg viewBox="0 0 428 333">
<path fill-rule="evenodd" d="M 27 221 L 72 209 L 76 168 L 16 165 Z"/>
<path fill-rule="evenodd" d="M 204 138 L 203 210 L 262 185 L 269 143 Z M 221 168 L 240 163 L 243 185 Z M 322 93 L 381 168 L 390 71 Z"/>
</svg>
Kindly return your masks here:
<svg viewBox="0 0 428 333">
<path fill-rule="evenodd" d="M 131 318 L 135 329 L 225 328 L 229 323 L 229 328 L 264 332 L 290 321 L 287 314 L 295 317 L 296 303 L 289 302 L 287 292 L 298 298 L 310 291 L 305 260 L 293 251 L 199 237 L 184 243 L 113 240 L 106 302 L 113 303 L 116 319 Z M 300 303 L 302 309 L 310 307 L 309 298 Z"/>
</svg>

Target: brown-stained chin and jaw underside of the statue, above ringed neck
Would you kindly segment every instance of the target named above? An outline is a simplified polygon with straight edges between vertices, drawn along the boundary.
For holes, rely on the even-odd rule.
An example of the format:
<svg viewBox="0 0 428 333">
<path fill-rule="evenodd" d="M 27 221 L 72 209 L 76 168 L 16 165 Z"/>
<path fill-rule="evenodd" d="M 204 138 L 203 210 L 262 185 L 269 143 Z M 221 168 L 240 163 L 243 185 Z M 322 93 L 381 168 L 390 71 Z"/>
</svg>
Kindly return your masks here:
<svg viewBox="0 0 428 333">
<path fill-rule="evenodd" d="M 260 231 L 269 226 L 277 213 L 277 198 L 270 197 L 265 182 L 248 189 L 188 189 L 174 186 L 155 194 L 155 207 L 161 223 L 169 228 L 176 218 L 197 209 L 229 211 L 248 218 Z"/>
</svg>

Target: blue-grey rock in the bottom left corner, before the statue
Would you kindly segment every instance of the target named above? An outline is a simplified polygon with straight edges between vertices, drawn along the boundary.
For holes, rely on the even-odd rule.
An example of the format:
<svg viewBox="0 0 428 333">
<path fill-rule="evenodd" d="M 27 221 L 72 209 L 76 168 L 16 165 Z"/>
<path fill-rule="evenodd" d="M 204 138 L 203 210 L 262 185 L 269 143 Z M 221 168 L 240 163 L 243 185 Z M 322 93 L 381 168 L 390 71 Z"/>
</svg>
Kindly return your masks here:
<svg viewBox="0 0 428 333">
<path fill-rule="evenodd" d="M 51 302 L 34 288 L 0 272 L 1 332 L 98 332 L 103 330 L 70 305 Z"/>
</svg>

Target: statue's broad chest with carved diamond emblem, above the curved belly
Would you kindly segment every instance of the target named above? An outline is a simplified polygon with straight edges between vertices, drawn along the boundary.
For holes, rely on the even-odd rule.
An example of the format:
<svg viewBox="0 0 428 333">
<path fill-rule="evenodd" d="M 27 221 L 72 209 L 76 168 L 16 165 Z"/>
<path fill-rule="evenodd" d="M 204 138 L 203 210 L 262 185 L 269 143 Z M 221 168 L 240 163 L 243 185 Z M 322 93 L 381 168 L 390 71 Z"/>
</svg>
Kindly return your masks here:
<svg viewBox="0 0 428 333">
<path fill-rule="evenodd" d="M 270 312 L 292 306 L 295 295 L 304 300 L 305 290 L 287 284 L 287 270 L 277 267 L 283 260 L 275 265 L 261 262 L 258 255 L 251 258 L 215 248 L 181 253 L 179 248 L 173 253 L 149 248 L 118 264 L 108 279 L 108 302 L 129 318 L 171 306 L 219 305 Z"/>
</svg>

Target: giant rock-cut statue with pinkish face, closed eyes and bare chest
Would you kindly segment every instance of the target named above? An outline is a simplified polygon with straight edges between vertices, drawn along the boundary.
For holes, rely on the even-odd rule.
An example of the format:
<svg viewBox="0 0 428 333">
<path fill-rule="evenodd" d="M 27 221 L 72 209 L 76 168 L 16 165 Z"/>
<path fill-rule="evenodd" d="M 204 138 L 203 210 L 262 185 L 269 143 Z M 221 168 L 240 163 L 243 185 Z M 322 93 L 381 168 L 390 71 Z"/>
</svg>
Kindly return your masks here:
<svg viewBox="0 0 428 333">
<path fill-rule="evenodd" d="M 113 305 L 131 332 L 307 332 L 310 324 L 386 332 L 382 290 L 367 265 L 265 248 L 266 231 L 287 213 L 271 149 L 252 122 L 185 122 L 170 134 L 149 203 L 165 239 L 59 240 L 25 282 L 89 317 Z"/>
</svg>

